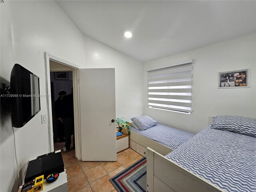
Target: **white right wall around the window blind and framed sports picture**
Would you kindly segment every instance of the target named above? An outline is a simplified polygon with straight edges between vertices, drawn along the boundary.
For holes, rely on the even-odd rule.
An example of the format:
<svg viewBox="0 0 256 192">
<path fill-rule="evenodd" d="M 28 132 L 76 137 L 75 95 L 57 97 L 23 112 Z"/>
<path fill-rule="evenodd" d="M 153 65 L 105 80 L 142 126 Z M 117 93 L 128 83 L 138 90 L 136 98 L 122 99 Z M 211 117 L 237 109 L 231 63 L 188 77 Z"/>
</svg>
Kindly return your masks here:
<svg viewBox="0 0 256 192">
<path fill-rule="evenodd" d="M 194 59 L 194 112 L 190 115 L 148 108 L 147 68 Z M 256 34 L 144 64 L 144 114 L 158 122 L 197 133 L 208 116 L 240 115 L 256 118 Z M 218 89 L 218 72 L 250 68 L 250 88 Z"/>
</svg>

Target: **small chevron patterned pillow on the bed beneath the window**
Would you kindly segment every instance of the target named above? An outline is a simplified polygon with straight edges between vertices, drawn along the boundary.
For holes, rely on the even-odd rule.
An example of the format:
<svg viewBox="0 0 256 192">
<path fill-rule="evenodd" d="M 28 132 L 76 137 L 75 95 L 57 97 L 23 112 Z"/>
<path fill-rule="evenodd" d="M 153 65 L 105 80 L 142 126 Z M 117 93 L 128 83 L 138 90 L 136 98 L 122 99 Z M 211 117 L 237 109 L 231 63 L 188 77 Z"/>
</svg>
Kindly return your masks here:
<svg viewBox="0 0 256 192">
<path fill-rule="evenodd" d="M 150 118 L 149 116 L 133 117 L 131 120 L 136 124 L 138 130 L 143 131 L 151 128 L 157 124 L 157 121 Z"/>
</svg>

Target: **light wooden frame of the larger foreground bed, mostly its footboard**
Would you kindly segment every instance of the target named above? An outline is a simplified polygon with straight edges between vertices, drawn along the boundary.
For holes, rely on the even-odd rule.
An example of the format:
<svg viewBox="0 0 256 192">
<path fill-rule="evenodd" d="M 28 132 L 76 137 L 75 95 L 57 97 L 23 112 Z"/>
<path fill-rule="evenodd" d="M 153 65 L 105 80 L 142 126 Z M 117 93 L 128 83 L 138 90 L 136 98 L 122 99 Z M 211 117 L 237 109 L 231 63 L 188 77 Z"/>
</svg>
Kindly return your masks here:
<svg viewBox="0 0 256 192">
<path fill-rule="evenodd" d="M 209 117 L 212 124 L 212 117 Z M 147 192 L 224 192 L 151 148 L 147 148 Z"/>
</svg>

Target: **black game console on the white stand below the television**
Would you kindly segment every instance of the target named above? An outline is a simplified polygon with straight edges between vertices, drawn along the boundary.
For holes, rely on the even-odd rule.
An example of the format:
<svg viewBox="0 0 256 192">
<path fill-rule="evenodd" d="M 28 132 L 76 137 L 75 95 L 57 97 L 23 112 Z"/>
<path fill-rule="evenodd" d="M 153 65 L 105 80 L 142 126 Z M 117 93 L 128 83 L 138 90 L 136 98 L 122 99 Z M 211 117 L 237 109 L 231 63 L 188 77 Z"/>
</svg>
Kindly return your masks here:
<svg viewBox="0 0 256 192">
<path fill-rule="evenodd" d="M 47 178 L 52 173 L 64 172 L 64 163 L 61 152 L 37 158 L 28 162 L 24 182 L 29 182 L 35 177 L 44 175 Z"/>
</svg>

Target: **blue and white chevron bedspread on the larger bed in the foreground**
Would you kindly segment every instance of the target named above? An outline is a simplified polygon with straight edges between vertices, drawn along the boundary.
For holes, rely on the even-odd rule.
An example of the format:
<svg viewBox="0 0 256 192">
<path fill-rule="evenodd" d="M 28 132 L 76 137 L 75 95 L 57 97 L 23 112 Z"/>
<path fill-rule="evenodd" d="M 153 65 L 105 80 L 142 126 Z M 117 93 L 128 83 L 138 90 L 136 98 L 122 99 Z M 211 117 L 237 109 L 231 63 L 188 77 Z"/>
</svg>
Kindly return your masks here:
<svg viewBox="0 0 256 192">
<path fill-rule="evenodd" d="M 256 138 L 208 126 L 167 158 L 228 192 L 256 192 Z"/>
</svg>

